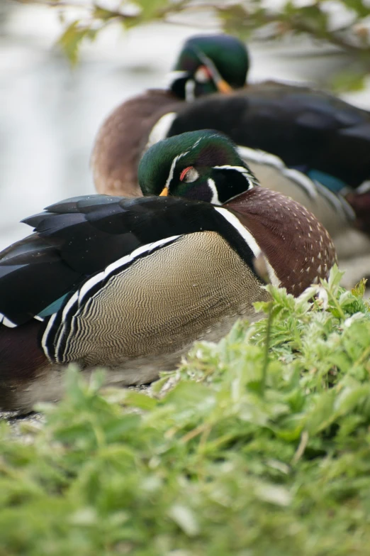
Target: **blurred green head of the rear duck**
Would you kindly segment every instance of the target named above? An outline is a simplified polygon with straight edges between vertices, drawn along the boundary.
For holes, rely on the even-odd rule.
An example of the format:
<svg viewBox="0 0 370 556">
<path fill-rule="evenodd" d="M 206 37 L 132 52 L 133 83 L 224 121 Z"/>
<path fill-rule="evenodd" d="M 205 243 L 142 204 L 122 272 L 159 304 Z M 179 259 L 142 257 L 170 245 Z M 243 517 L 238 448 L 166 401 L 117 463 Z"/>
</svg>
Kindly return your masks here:
<svg viewBox="0 0 370 556">
<path fill-rule="evenodd" d="M 186 40 L 174 67 L 172 92 L 192 100 L 245 85 L 249 69 L 247 47 L 230 35 L 199 35 Z"/>
</svg>

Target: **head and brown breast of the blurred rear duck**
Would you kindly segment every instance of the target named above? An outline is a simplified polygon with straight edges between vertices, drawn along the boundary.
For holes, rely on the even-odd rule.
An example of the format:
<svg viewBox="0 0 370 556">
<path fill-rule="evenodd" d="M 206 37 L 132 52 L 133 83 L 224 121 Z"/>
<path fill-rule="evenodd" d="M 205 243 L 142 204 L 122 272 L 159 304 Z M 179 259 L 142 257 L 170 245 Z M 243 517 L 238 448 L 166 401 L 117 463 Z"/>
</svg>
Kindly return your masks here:
<svg viewBox="0 0 370 556">
<path fill-rule="evenodd" d="M 248 67 L 247 50 L 240 40 L 227 35 L 189 38 L 169 89 L 148 89 L 123 102 L 101 126 L 91 156 L 98 192 L 141 195 L 138 163 L 145 148 L 156 137 L 162 138 L 186 101 L 242 87 Z"/>
</svg>

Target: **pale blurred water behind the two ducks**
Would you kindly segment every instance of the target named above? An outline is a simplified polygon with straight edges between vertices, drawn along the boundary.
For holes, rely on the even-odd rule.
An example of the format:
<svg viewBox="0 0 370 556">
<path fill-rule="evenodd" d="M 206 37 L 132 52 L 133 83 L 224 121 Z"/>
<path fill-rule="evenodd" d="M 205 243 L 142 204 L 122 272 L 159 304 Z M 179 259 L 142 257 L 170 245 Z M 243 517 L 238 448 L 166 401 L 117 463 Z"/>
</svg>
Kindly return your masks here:
<svg viewBox="0 0 370 556">
<path fill-rule="evenodd" d="M 214 32 L 155 24 L 123 32 L 109 27 L 82 48 L 75 70 L 55 45 L 58 12 L 4 0 L 0 4 L 0 249 L 30 233 L 22 218 L 65 197 L 94 192 L 89 157 L 103 118 L 124 99 L 162 87 L 184 39 Z M 250 80 L 325 85 L 348 63 L 302 40 L 250 44 Z M 370 84 L 344 99 L 370 109 Z"/>
</svg>

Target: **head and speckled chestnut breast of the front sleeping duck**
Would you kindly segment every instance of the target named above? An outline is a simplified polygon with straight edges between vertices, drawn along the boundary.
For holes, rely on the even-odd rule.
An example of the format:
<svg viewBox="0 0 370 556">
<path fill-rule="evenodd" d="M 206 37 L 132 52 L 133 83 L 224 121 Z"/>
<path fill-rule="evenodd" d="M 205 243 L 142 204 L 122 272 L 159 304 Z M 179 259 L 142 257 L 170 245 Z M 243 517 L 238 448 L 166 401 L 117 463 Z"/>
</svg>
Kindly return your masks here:
<svg viewBox="0 0 370 556">
<path fill-rule="evenodd" d="M 162 192 L 223 205 L 215 209 L 225 209 L 243 236 L 250 234 L 255 256 L 261 251 L 273 269 L 272 283 L 293 295 L 327 278 L 336 261 L 332 240 L 313 214 L 259 187 L 234 143 L 218 132 L 191 131 L 159 141 L 140 161 L 139 183 L 144 195 Z"/>
</svg>

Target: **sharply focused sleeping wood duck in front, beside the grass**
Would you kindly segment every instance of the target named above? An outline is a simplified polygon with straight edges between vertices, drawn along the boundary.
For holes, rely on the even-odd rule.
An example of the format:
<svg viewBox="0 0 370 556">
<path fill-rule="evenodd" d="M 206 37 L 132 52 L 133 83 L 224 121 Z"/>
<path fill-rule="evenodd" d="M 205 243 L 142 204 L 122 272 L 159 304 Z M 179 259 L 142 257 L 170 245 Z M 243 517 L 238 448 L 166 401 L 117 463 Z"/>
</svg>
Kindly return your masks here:
<svg viewBox="0 0 370 556">
<path fill-rule="evenodd" d="M 85 374 L 105 367 L 107 383 L 148 383 L 195 340 L 254 320 L 266 281 L 299 295 L 335 263 L 317 219 L 259 187 L 219 133 L 157 143 L 139 175 L 162 195 L 59 202 L 0 254 L 3 410 L 60 398 L 70 361 Z"/>
</svg>

